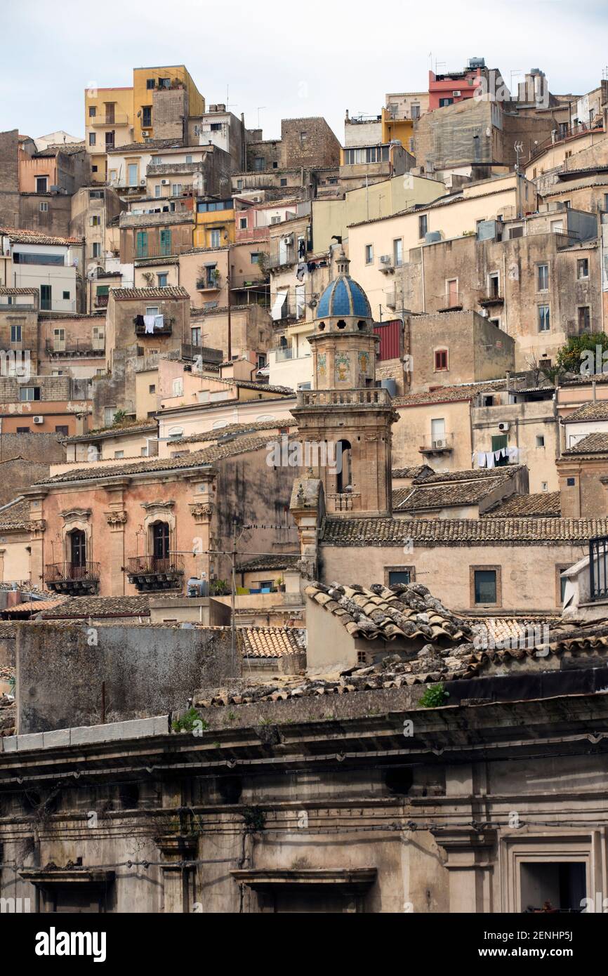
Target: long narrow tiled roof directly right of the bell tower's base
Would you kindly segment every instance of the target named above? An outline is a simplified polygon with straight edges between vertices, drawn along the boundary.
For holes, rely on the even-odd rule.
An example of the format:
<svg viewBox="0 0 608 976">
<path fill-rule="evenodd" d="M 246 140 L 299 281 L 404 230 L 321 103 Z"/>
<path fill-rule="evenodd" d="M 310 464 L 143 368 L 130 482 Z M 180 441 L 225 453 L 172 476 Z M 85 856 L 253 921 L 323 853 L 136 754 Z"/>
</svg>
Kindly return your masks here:
<svg viewBox="0 0 608 976">
<path fill-rule="evenodd" d="M 325 518 L 323 546 L 563 546 L 608 535 L 608 518 Z"/>
</svg>

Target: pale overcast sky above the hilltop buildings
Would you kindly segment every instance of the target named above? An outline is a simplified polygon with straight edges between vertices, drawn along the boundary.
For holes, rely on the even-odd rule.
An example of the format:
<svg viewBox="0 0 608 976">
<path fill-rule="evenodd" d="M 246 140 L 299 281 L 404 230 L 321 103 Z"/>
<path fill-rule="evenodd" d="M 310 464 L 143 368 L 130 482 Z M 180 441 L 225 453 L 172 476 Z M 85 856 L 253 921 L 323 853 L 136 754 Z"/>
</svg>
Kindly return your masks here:
<svg viewBox="0 0 608 976">
<path fill-rule="evenodd" d="M 425 91 L 428 67 L 470 57 L 540 67 L 551 92 L 584 94 L 608 61 L 608 6 L 588 0 L 3 0 L 0 131 L 84 137 L 87 85 L 129 86 L 133 67 L 185 64 L 206 102 L 248 128 L 323 115 L 342 142 L 345 109 L 380 112 L 386 92 Z"/>
</svg>

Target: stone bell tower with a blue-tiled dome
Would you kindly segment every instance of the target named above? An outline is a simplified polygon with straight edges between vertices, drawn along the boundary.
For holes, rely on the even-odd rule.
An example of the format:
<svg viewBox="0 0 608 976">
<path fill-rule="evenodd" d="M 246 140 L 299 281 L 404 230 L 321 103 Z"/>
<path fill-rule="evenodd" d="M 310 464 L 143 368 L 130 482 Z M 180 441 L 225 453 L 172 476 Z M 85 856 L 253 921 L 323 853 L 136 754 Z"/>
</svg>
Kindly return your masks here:
<svg viewBox="0 0 608 976">
<path fill-rule="evenodd" d="M 310 467 L 323 483 L 327 513 L 388 515 L 390 427 L 397 415 L 388 390 L 376 386 L 380 338 L 348 264 L 343 252 L 338 276 L 319 299 L 308 337 L 314 389 L 298 393 L 292 414 L 299 440 L 311 445 Z"/>
</svg>

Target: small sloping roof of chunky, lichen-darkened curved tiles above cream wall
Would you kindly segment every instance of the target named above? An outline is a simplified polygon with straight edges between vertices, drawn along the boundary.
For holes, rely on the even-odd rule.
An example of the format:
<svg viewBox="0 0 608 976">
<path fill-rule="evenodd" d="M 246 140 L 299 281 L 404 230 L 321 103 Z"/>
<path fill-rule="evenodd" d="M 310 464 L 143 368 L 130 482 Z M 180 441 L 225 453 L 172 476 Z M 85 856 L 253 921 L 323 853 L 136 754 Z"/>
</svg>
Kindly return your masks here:
<svg viewBox="0 0 608 976">
<path fill-rule="evenodd" d="M 390 590 L 382 584 L 350 587 L 311 583 L 306 596 L 337 617 L 351 637 L 368 640 L 415 639 L 456 643 L 472 639 L 466 622 L 455 617 L 419 583 Z"/>
</svg>

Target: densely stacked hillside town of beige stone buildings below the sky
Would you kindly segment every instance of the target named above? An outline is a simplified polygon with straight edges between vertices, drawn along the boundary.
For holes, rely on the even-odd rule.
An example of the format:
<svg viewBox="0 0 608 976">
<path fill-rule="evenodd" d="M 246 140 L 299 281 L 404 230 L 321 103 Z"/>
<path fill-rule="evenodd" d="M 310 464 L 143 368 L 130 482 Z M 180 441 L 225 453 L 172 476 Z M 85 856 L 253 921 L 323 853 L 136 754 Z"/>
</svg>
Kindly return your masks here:
<svg viewBox="0 0 608 976">
<path fill-rule="evenodd" d="M 608 70 L 190 68 L 0 133 L 0 900 L 605 912 Z"/>
</svg>

